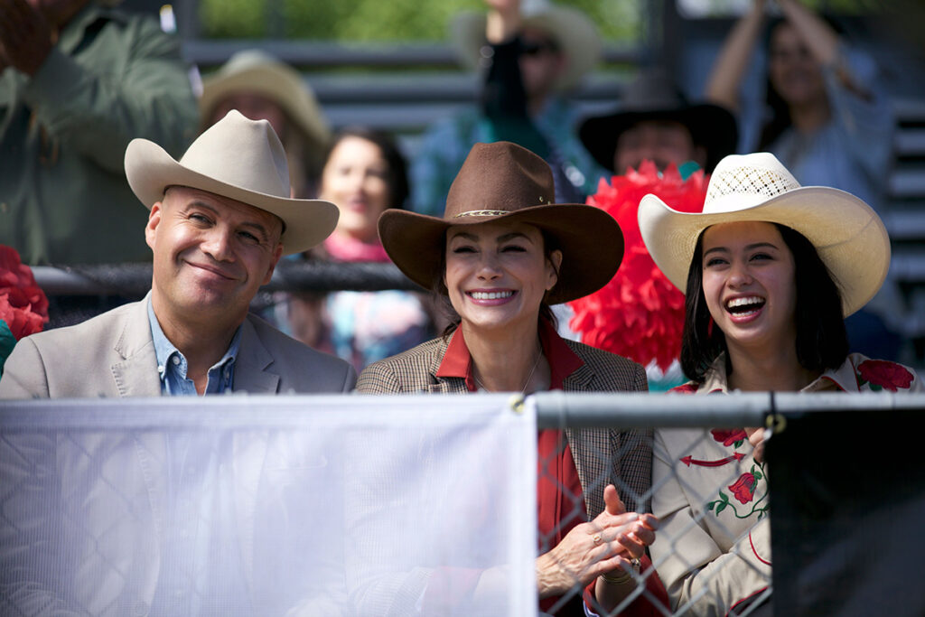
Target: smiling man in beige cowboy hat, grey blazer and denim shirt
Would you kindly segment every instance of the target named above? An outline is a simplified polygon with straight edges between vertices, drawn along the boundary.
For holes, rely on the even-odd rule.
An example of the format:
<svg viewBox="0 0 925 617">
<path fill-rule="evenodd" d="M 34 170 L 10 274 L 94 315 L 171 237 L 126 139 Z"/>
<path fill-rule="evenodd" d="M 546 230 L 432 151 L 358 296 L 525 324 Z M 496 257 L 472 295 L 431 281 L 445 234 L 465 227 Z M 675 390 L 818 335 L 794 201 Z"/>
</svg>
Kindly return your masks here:
<svg viewBox="0 0 925 617">
<path fill-rule="evenodd" d="M 266 120 L 231 111 L 178 161 L 129 143 L 126 176 L 150 209 L 151 292 L 74 327 L 22 339 L 0 398 L 78 398 L 352 389 L 351 366 L 248 314 L 284 253 L 327 238 L 338 210 L 290 199 L 283 147 Z"/>
</svg>

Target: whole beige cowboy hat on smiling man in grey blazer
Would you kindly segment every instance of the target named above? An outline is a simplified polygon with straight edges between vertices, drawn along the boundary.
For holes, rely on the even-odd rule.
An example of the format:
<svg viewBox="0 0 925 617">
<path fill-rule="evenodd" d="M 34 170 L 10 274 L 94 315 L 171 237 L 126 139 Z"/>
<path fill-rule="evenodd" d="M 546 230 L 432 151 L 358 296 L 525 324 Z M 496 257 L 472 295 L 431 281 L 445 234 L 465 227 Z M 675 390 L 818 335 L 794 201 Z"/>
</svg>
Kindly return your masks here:
<svg viewBox="0 0 925 617">
<path fill-rule="evenodd" d="M 290 199 L 289 165 L 266 120 L 232 109 L 192 142 L 179 159 L 148 140 L 125 151 L 125 175 L 149 210 L 169 186 L 208 191 L 253 205 L 282 219 L 283 253 L 301 253 L 325 240 L 338 224 L 338 208 L 317 199 Z"/>
</svg>

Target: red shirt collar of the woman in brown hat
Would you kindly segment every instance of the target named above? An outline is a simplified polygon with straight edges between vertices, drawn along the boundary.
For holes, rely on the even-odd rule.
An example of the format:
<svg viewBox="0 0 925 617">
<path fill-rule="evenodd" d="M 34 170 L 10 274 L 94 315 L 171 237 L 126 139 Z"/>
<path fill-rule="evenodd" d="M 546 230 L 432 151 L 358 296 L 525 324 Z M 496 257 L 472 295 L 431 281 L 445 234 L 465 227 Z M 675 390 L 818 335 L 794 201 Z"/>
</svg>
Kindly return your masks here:
<svg viewBox="0 0 925 617">
<path fill-rule="evenodd" d="M 546 354 L 546 359 L 549 361 L 549 370 L 551 372 L 549 389 L 562 389 L 562 382 L 565 381 L 565 378 L 572 375 L 585 362 L 572 351 L 546 319 L 539 320 L 538 331 L 543 353 Z M 437 376 L 461 377 L 465 379 L 466 389 L 470 392 L 475 392 L 472 355 L 465 344 L 461 328 L 457 327 L 450 335 L 450 344 L 447 345 L 447 352 L 443 354 L 443 360 L 440 361 Z"/>
</svg>

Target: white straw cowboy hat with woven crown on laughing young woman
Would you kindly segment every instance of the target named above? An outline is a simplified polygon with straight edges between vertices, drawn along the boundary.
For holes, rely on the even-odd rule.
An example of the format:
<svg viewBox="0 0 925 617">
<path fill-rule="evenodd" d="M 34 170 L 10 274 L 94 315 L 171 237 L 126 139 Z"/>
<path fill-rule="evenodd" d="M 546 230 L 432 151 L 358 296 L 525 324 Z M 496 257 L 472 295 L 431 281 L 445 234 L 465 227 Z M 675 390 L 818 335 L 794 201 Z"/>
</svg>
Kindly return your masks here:
<svg viewBox="0 0 925 617">
<path fill-rule="evenodd" d="M 773 154 L 723 158 L 709 179 L 702 213 L 672 210 L 648 194 L 638 216 L 649 254 L 682 291 L 697 239 L 719 223 L 766 221 L 803 234 L 839 286 L 845 316 L 873 298 L 890 268 L 890 238 L 870 205 L 839 189 L 801 187 Z"/>
</svg>

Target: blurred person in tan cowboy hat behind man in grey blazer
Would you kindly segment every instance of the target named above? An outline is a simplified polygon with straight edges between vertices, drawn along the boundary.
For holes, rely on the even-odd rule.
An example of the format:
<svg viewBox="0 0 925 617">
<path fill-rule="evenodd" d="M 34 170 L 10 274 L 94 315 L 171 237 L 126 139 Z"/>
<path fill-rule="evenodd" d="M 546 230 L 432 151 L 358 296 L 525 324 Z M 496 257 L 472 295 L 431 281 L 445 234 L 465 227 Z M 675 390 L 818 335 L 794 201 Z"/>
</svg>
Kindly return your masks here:
<svg viewBox="0 0 925 617">
<path fill-rule="evenodd" d="M 294 68 L 259 49 L 240 51 L 203 80 L 199 109 L 203 128 L 232 109 L 252 120 L 269 120 L 289 157 L 292 196 L 316 194 L 331 130 L 314 92 Z"/>
</svg>

